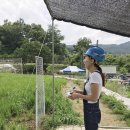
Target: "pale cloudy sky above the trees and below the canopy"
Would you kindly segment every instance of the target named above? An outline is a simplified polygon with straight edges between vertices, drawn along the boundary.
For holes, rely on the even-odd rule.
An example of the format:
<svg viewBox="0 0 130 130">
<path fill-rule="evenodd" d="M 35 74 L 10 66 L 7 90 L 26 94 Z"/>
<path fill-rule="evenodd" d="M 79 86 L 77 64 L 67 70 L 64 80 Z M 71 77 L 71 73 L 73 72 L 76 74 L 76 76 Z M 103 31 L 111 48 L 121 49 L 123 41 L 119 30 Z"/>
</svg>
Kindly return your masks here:
<svg viewBox="0 0 130 130">
<path fill-rule="evenodd" d="M 5 19 L 11 22 L 23 18 L 25 23 L 41 24 L 47 30 L 51 24 L 51 16 L 43 0 L 0 0 L 0 25 Z M 130 38 L 104 31 L 87 28 L 63 21 L 54 21 L 61 34 L 64 35 L 64 43 L 76 44 L 79 38 L 87 37 L 92 44 L 121 44 L 130 41 Z"/>
</svg>

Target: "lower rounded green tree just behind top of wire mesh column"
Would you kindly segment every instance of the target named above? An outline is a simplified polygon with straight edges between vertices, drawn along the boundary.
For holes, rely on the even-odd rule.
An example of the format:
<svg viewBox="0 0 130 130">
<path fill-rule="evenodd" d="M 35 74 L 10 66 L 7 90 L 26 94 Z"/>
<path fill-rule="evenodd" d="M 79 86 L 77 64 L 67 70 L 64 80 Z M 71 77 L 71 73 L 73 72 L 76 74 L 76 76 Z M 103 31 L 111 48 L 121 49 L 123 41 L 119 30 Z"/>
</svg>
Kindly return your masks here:
<svg viewBox="0 0 130 130">
<path fill-rule="evenodd" d="M 21 57 L 23 63 L 34 63 L 35 56 L 38 56 L 40 49 L 40 42 L 26 42 L 22 44 L 20 48 L 17 48 L 14 54 L 16 57 Z M 39 56 L 43 57 L 44 63 L 51 63 L 51 50 L 46 45 L 42 45 L 42 50 Z"/>
</svg>

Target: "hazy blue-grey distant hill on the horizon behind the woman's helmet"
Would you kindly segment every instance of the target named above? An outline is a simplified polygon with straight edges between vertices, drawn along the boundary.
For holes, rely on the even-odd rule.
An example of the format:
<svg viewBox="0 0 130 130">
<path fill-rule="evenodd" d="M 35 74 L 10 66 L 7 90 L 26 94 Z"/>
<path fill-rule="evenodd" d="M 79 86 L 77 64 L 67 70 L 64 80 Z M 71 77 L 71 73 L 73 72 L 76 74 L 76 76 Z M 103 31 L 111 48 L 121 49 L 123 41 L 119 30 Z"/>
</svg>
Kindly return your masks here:
<svg viewBox="0 0 130 130">
<path fill-rule="evenodd" d="M 103 45 L 99 44 L 99 47 L 102 47 L 107 53 L 112 53 L 112 54 L 130 54 L 130 41 L 125 42 L 122 44 L 108 44 L 108 45 Z M 67 48 L 69 50 L 73 50 L 73 45 L 67 45 Z"/>
</svg>

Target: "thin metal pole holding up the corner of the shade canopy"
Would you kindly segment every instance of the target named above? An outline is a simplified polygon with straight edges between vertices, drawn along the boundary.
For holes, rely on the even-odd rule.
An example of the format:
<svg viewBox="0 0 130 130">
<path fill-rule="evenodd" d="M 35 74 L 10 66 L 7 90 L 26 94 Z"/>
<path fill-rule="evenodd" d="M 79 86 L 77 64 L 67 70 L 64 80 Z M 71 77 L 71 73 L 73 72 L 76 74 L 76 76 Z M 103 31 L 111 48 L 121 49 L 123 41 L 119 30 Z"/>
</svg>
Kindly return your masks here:
<svg viewBox="0 0 130 130">
<path fill-rule="evenodd" d="M 53 120 L 53 130 L 54 130 L 54 110 L 55 110 L 55 88 L 54 88 L 54 18 L 52 17 L 52 120 Z"/>
</svg>

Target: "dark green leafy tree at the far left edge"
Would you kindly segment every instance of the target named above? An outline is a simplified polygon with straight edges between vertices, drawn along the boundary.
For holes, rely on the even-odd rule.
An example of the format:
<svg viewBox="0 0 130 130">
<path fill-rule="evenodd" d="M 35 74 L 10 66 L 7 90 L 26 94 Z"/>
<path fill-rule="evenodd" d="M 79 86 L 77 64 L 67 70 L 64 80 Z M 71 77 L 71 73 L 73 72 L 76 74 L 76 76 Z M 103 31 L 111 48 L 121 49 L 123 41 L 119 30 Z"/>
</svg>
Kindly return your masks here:
<svg viewBox="0 0 130 130">
<path fill-rule="evenodd" d="M 22 38 L 20 21 L 12 24 L 8 20 L 5 20 L 4 25 L 0 26 L 1 53 L 13 53 L 17 47 L 21 46 L 20 41 Z"/>
</svg>

